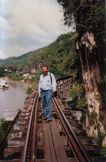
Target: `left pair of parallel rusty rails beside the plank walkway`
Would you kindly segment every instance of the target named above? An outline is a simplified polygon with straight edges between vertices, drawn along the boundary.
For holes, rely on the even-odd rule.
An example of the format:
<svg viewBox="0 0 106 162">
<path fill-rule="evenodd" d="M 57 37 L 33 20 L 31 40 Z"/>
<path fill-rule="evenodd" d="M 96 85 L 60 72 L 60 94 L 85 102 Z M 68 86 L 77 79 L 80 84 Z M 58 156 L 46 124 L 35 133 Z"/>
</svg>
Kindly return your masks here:
<svg viewBox="0 0 106 162">
<path fill-rule="evenodd" d="M 25 146 L 22 155 L 22 162 L 27 161 L 34 162 L 36 160 L 37 113 L 38 113 L 38 95 L 35 96 L 35 100 L 32 106 Z"/>
</svg>

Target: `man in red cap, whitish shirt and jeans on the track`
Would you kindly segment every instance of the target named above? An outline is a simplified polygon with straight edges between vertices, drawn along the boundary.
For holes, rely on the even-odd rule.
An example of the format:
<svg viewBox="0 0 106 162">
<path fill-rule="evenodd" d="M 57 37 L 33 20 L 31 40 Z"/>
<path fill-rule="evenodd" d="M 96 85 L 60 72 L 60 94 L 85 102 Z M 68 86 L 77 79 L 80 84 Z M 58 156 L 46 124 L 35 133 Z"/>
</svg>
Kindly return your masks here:
<svg viewBox="0 0 106 162">
<path fill-rule="evenodd" d="M 39 97 L 42 100 L 43 114 L 47 121 L 52 121 L 52 97 L 56 92 L 56 79 L 53 73 L 48 71 L 48 66 L 42 67 L 42 74 L 39 79 Z"/>
</svg>

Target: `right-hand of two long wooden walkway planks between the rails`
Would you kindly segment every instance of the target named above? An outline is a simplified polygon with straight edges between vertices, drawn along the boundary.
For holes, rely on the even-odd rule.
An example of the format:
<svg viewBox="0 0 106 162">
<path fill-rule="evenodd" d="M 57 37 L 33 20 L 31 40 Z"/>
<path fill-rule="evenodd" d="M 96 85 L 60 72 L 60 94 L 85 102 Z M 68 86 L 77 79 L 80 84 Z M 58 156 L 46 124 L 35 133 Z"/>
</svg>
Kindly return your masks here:
<svg viewBox="0 0 106 162">
<path fill-rule="evenodd" d="M 49 125 L 58 162 L 68 162 L 68 157 L 64 149 L 64 141 L 63 138 L 61 138 L 61 136 L 59 135 L 57 123 L 55 121 L 52 121 Z"/>
</svg>

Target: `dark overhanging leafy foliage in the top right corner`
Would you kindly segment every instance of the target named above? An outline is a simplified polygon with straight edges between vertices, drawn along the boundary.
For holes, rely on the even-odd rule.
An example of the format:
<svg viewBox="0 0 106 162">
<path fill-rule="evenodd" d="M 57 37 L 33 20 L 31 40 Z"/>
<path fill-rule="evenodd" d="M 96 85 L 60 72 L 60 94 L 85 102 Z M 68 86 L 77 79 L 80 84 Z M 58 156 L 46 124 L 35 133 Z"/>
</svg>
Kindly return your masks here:
<svg viewBox="0 0 106 162">
<path fill-rule="evenodd" d="M 63 7 L 64 23 L 68 26 L 73 16 L 78 32 L 77 40 L 89 31 L 96 39 L 96 54 L 101 75 L 105 75 L 105 0 L 57 0 Z M 95 62 L 95 61 L 93 61 Z"/>
</svg>

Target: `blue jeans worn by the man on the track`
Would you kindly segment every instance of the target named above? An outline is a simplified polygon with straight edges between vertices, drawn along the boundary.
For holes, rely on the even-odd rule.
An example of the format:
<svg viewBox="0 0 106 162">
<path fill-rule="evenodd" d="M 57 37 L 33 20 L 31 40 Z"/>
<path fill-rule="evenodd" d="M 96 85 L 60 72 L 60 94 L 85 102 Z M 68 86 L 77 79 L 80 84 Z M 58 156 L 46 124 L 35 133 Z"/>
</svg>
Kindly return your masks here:
<svg viewBox="0 0 106 162">
<path fill-rule="evenodd" d="M 44 116 L 51 120 L 53 117 L 52 113 L 52 91 L 41 91 L 41 99 L 42 99 L 42 106 L 43 106 L 43 113 Z"/>
</svg>

